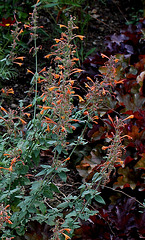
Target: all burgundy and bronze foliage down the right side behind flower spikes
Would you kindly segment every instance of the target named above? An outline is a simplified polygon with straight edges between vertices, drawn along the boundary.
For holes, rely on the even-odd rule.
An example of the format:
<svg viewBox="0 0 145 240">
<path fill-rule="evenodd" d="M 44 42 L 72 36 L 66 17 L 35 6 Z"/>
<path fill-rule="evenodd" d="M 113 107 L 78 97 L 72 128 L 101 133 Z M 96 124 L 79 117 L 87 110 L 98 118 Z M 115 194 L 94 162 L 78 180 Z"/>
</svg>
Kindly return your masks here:
<svg viewBox="0 0 145 240">
<path fill-rule="evenodd" d="M 120 34 L 106 37 L 104 54 L 108 57 L 111 55 L 122 57 L 122 65 L 118 66 L 117 70 L 121 72 L 120 79 L 124 82 L 117 84 L 114 89 L 114 96 L 117 99 L 115 108 L 108 110 L 101 120 L 98 120 L 98 124 L 93 124 L 92 129 L 88 129 L 87 137 L 93 144 L 96 142 L 96 149 L 100 149 L 100 146 L 103 146 L 106 132 L 110 134 L 113 131 L 107 115 L 110 114 L 112 117 L 134 115 L 124 129 L 124 134 L 132 139 L 123 141 L 126 148 L 123 155 L 125 167 L 116 166 L 114 174 L 110 175 L 108 186 L 116 192 L 103 189 L 105 207 L 101 206 L 99 214 L 90 217 L 87 222 L 82 222 L 82 227 L 76 230 L 72 240 L 145 239 L 145 210 L 140 208 L 138 202 L 143 203 L 145 199 L 145 74 L 142 75 L 140 82 L 137 80 L 145 66 L 145 39 L 142 34 L 144 29 L 145 19 L 142 19 L 136 26 L 126 26 Z M 84 88 L 87 76 L 93 81 L 95 78 L 101 79 L 99 68 L 106 60 L 98 52 L 83 62 L 84 72 L 79 77 L 80 89 L 81 86 Z M 84 94 L 85 92 L 82 92 L 82 95 Z M 106 123 L 110 130 L 106 128 Z M 90 168 L 95 162 L 93 159 L 94 156 L 87 158 Z M 98 160 L 99 156 L 96 155 L 96 162 Z M 83 163 L 85 163 L 85 158 L 82 166 Z M 85 178 L 86 181 L 89 181 L 93 174 L 99 171 L 101 163 L 102 160 L 92 168 L 91 173 L 89 172 Z M 131 197 L 126 197 L 123 193 Z M 116 194 L 115 197 L 113 194 Z"/>
</svg>

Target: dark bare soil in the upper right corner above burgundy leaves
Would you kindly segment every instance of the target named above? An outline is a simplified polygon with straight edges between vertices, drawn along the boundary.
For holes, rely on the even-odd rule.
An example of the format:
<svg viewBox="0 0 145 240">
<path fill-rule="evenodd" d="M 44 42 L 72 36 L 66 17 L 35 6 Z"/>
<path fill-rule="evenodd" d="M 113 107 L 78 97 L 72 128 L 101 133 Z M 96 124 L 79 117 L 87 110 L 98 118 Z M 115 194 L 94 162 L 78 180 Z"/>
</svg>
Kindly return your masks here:
<svg viewBox="0 0 145 240">
<path fill-rule="evenodd" d="M 90 10 L 92 20 L 89 23 L 86 47 L 96 47 L 96 51 L 103 52 L 104 40 L 107 35 L 119 33 L 126 24 L 142 17 L 140 10 L 142 2 L 136 0 L 108 0 L 103 4 L 95 1 Z"/>
</svg>

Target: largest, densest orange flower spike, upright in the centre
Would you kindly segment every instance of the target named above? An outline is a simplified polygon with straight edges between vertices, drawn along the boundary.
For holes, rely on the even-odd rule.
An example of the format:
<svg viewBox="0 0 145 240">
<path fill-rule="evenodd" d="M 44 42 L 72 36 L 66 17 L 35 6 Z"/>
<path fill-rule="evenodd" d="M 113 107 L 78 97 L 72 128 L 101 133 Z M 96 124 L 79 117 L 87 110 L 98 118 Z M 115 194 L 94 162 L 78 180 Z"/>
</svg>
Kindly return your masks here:
<svg viewBox="0 0 145 240">
<path fill-rule="evenodd" d="M 47 124 L 46 131 L 56 134 L 58 141 L 64 146 L 67 133 L 75 130 L 72 122 L 78 121 L 71 118 L 75 95 L 72 76 L 82 70 L 74 68 L 78 59 L 74 56 L 75 48 L 71 41 L 81 36 L 73 34 L 73 30 L 77 27 L 72 17 L 68 26 L 60 25 L 60 27 L 65 27 L 67 30 L 61 34 L 60 39 L 55 39 L 54 51 L 45 56 L 45 58 L 53 56 L 55 70 L 50 67 L 47 72 L 43 72 L 44 79 L 40 80 L 43 92 L 41 98 L 44 103 L 40 106 L 40 113 L 44 115 L 43 123 Z"/>
</svg>

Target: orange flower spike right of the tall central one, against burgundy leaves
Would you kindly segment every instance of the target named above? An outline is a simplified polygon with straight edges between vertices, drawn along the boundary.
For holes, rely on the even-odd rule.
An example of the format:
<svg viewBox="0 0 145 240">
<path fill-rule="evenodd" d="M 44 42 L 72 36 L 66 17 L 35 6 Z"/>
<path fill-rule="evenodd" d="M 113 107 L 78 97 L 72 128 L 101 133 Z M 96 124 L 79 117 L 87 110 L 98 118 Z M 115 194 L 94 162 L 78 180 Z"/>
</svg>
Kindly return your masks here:
<svg viewBox="0 0 145 240">
<path fill-rule="evenodd" d="M 117 81 L 116 64 L 118 59 L 115 56 L 109 58 L 104 54 L 102 54 L 102 57 L 107 58 L 108 61 L 105 63 L 105 66 L 99 69 L 101 72 L 100 77 L 95 79 L 95 81 L 87 77 L 88 82 L 85 83 L 87 88 L 85 96 L 87 111 L 85 110 L 85 115 L 88 115 L 89 118 L 92 118 L 94 115 L 99 117 L 101 112 L 104 113 L 106 109 L 111 107 L 114 87 L 118 83 L 123 83 L 122 80 Z M 92 121 L 94 120 L 92 119 Z"/>
</svg>

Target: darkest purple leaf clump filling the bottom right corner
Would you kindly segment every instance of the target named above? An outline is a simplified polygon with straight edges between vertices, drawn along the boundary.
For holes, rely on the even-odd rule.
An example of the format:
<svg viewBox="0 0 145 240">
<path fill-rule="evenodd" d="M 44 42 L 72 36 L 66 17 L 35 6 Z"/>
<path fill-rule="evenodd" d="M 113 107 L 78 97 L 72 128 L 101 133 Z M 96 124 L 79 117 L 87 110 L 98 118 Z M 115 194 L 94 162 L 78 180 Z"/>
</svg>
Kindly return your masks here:
<svg viewBox="0 0 145 240">
<path fill-rule="evenodd" d="M 134 199 L 120 198 L 116 204 L 99 210 L 76 230 L 76 239 L 140 239 L 145 236 L 145 212 L 139 212 Z"/>
</svg>

